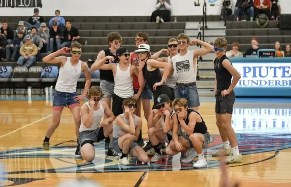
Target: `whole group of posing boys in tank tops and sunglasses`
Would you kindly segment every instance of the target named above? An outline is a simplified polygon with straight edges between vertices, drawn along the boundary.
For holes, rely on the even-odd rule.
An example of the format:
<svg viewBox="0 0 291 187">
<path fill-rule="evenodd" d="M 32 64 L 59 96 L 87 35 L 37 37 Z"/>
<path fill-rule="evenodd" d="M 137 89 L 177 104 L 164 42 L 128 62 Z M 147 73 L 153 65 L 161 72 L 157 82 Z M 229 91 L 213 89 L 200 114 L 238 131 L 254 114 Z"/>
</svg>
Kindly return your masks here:
<svg viewBox="0 0 291 187">
<path fill-rule="evenodd" d="M 168 41 L 168 49 L 162 49 L 153 55 L 147 45 L 148 40 L 147 33 L 137 33 L 135 43 L 138 50 L 130 53 L 121 47 L 122 37 L 118 32 L 109 33 L 107 42 L 110 48 L 100 51 L 91 66 L 91 72 L 100 70 L 100 87 L 90 88 L 90 71 L 87 63 L 80 60 L 82 46 L 79 43 L 73 43 L 70 48 L 64 47 L 43 59 L 46 63 L 61 63 L 55 87 L 52 124 L 48 127 L 43 149 L 49 150 L 49 139 L 60 123 L 63 108 L 67 106 L 76 125 L 76 157 L 92 161 L 95 157 L 93 143 L 107 139 L 107 156 L 119 159 L 124 165 L 129 164 L 128 154 L 147 163 L 148 156 L 153 156 L 151 162 L 156 162 L 162 159 L 163 152 L 167 155 L 181 152 L 181 162 L 189 163 L 198 157 L 194 167 L 205 167 L 207 162 L 203 149 L 210 143 L 210 134 L 198 113 L 200 100 L 196 86 L 197 58 L 214 50 L 217 56 L 213 60 L 216 73 L 216 124 L 223 147 L 212 156 L 227 156 L 228 164 L 241 163 L 242 156 L 231 126 L 235 101 L 233 88 L 240 75 L 225 55 L 226 39 L 217 38 L 213 47 L 200 40 L 190 40 L 188 35 L 182 33 L 177 39 Z M 188 50 L 189 45 L 196 43 L 203 48 Z M 162 53 L 166 53 L 168 57 L 160 58 Z M 60 56 L 65 54 L 71 54 L 71 57 Z M 144 81 L 145 74 L 153 73 L 149 68 L 154 66 L 156 69 L 153 71 L 157 70 L 158 74 L 165 75 L 166 80 L 159 75 L 160 82 L 153 84 L 150 83 L 151 79 Z M 85 74 L 86 83 L 83 93 L 78 96 L 76 83 L 81 72 Z M 152 85 L 154 88 L 151 88 Z M 161 92 L 155 95 L 157 86 L 162 85 L 169 87 L 171 94 Z M 171 98 L 171 95 L 174 97 Z M 86 96 L 89 101 L 80 107 L 79 102 Z M 141 105 L 148 124 L 149 141 L 145 147 L 141 131 Z"/>
</svg>

